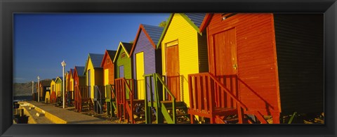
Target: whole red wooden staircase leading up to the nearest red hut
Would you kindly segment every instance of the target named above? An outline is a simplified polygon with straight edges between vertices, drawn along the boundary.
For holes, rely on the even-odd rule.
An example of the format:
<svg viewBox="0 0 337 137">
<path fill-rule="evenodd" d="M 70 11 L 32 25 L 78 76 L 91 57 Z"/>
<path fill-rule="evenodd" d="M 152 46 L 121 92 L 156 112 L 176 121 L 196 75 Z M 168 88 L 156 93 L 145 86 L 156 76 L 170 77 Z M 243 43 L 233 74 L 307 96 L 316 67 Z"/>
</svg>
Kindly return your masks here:
<svg viewBox="0 0 337 137">
<path fill-rule="evenodd" d="M 188 113 L 199 123 L 211 124 L 266 124 L 263 115 L 258 111 L 248 110 L 239 97 L 226 88 L 213 74 L 209 72 L 188 75 L 190 92 L 190 109 Z M 199 117 L 199 120 L 195 116 Z M 253 115 L 256 121 L 249 118 Z M 204 120 L 207 118 L 207 120 Z"/>
</svg>

